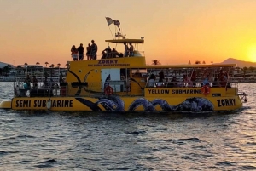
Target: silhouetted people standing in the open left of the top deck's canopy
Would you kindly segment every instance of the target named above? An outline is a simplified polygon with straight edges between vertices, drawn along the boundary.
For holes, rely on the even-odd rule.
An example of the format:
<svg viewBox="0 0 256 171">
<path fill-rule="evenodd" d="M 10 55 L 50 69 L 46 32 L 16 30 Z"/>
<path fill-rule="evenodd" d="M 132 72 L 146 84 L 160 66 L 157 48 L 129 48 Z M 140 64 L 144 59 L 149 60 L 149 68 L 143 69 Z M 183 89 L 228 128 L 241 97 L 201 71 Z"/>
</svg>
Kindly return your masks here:
<svg viewBox="0 0 256 171">
<path fill-rule="evenodd" d="M 71 56 L 73 58 L 73 61 L 84 60 L 83 43 L 80 43 L 79 48 L 76 48 L 76 46 L 73 45 L 70 51 L 71 51 Z M 96 43 L 94 42 L 94 40 L 91 40 L 91 44 L 88 43 L 88 46 L 86 47 L 87 60 L 96 60 L 97 51 L 98 51 L 98 47 Z"/>
</svg>

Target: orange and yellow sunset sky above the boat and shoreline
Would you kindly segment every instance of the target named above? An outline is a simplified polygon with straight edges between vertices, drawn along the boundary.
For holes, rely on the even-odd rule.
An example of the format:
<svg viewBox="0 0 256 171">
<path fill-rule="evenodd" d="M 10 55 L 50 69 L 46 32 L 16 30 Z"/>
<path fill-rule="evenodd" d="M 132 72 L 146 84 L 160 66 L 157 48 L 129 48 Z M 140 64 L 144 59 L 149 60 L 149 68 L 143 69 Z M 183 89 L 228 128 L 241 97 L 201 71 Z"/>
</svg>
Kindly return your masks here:
<svg viewBox="0 0 256 171">
<path fill-rule="evenodd" d="M 91 39 L 101 53 L 112 38 L 107 16 L 126 38 L 144 37 L 148 64 L 256 62 L 255 9 L 255 0 L 0 0 L 0 61 L 64 66 L 72 45 Z"/>
</svg>

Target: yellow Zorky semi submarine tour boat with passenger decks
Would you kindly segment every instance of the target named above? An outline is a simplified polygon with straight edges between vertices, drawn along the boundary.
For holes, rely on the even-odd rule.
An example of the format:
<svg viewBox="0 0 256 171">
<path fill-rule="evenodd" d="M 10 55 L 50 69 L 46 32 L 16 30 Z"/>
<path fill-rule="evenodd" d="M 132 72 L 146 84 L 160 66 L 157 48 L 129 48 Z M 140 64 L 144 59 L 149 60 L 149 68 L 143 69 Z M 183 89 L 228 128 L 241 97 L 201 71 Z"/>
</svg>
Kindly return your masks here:
<svg viewBox="0 0 256 171">
<path fill-rule="evenodd" d="M 61 88 L 39 85 L 27 90 L 14 83 L 15 97 L 0 108 L 49 111 L 229 111 L 241 108 L 246 94 L 232 83 L 229 65 L 146 65 L 144 39 L 106 40 L 108 45 L 133 43 L 130 56 L 105 55 L 101 60 L 70 61 Z M 226 71 L 226 81 L 218 78 Z M 161 72 L 161 73 L 160 73 Z M 165 78 L 158 78 L 158 75 Z M 208 83 L 204 83 L 206 80 Z M 154 76 L 154 77 L 153 77 Z M 149 79 L 151 77 L 151 79 Z M 152 79 L 153 77 L 153 79 Z M 176 77 L 176 79 L 175 79 Z M 161 79 L 161 80 L 158 80 Z M 171 81 L 172 79 L 172 81 Z"/>
</svg>

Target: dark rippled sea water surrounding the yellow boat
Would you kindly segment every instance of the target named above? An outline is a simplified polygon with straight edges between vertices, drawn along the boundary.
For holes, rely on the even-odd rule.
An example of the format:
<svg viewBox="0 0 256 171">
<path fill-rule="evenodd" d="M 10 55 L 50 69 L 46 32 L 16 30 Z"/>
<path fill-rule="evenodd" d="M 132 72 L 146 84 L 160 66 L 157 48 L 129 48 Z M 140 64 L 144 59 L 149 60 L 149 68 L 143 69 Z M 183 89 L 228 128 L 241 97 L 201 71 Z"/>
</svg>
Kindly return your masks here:
<svg viewBox="0 0 256 171">
<path fill-rule="evenodd" d="M 0 170 L 256 170 L 255 88 L 221 113 L 0 110 Z"/>
</svg>

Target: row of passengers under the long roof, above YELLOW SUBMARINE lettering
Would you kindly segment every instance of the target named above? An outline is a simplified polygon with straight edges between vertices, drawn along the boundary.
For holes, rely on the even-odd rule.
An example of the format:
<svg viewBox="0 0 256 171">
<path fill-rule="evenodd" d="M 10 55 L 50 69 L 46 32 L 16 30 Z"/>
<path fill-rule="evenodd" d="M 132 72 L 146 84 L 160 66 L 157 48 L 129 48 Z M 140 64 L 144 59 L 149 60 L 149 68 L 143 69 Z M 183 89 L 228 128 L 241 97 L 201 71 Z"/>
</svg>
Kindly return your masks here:
<svg viewBox="0 0 256 171">
<path fill-rule="evenodd" d="M 151 74 L 148 78 L 148 87 L 166 87 L 166 88 L 177 88 L 177 87 L 197 87 L 198 86 L 211 86 L 212 87 L 230 87 L 228 82 L 229 76 L 227 72 L 220 70 L 219 73 L 214 77 L 214 80 L 210 77 L 210 72 L 205 71 L 201 77 L 201 80 L 196 81 L 195 71 L 191 71 L 189 75 L 183 75 L 183 79 L 177 80 L 177 77 L 172 77 L 171 82 L 168 81 L 168 77 L 165 80 L 163 71 L 159 73 L 159 81 L 156 81 L 154 74 Z"/>
</svg>

